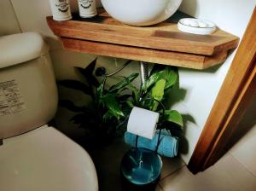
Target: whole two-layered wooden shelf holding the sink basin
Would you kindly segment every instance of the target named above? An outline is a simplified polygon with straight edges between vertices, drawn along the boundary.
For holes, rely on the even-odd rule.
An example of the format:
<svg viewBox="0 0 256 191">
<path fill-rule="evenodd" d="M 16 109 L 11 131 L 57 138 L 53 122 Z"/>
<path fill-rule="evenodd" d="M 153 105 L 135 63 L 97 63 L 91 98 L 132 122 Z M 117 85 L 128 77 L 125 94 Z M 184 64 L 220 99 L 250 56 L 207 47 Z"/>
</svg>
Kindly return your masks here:
<svg viewBox="0 0 256 191">
<path fill-rule="evenodd" d="M 224 62 L 239 42 L 221 30 L 207 36 L 179 32 L 173 20 L 177 16 L 171 18 L 155 26 L 127 26 L 100 9 L 90 19 L 75 14 L 73 20 L 55 21 L 49 16 L 47 22 L 66 49 L 195 69 Z"/>
</svg>

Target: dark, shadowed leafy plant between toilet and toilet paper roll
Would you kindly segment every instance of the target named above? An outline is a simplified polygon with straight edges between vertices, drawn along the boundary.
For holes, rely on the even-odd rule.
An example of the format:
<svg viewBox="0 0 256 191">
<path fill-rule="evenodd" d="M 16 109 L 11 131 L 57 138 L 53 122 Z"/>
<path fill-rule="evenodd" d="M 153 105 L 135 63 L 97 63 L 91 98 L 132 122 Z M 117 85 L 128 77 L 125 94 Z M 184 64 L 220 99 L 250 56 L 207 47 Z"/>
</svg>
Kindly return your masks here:
<svg viewBox="0 0 256 191">
<path fill-rule="evenodd" d="M 92 61 L 88 67 L 76 67 L 84 76 L 87 84 L 73 79 L 58 82 L 61 86 L 89 95 L 91 97 L 90 106 L 77 106 L 70 100 L 61 100 L 59 105 L 76 113 L 70 120 L 86 130 L 84 141 L 102 145 L 108 143 L 119 133 L 119 124 L 129 112 L 125 110 L 123 103 L 130 95 L 123 94 L 123 91 L 139 74 L 132 73 L 107 90 L 105 84 L 108 77 L 105 76 L 102 82 L 98 82 L 93 75 L 95 67 L 96 60 Z"/>
</svg>

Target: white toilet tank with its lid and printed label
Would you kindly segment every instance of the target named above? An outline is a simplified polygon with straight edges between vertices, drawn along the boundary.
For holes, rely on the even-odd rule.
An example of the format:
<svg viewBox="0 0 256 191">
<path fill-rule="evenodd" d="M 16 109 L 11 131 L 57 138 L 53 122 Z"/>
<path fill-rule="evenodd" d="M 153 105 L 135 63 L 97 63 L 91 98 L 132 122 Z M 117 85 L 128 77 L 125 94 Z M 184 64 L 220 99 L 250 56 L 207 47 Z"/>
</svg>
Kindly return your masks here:
<svg viewBox="0 0 256 191">
<path fill-rule="evenodd" d="M 36 32 L 0 37 L 0 139 L 47 124 L 57 97 L 43 38 Z"/>
</svg>

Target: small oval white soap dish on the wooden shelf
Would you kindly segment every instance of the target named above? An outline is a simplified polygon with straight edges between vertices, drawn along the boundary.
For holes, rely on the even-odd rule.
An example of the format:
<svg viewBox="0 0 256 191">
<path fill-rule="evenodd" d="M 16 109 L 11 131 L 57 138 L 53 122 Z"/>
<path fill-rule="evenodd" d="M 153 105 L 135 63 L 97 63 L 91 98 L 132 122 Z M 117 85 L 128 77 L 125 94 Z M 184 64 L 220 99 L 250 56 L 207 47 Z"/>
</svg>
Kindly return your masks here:
<svg viewBox="0 0 256 191">
<path fill-rule="evenodd" d="M 207 35 L 216 30 L 216 25 L 210 20 L 185 18 L 177 23 L 178 30 L 192 34 Z"/>
</svg>

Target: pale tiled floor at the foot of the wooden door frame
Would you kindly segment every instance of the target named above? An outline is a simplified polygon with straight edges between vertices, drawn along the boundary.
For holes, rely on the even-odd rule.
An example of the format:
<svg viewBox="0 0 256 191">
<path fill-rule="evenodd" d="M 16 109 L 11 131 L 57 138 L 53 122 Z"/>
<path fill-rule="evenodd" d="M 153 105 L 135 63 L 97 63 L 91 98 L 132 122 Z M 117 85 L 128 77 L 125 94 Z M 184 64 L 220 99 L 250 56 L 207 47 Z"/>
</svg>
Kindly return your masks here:
<svg viewBox="0 0 256 191">
<path fill-rule="evenodd" d="M 186 166 L 160 181 L 164 191 L 255 191 L 256 124 L 217 164 L 191 174 Z"/>
</svg>

